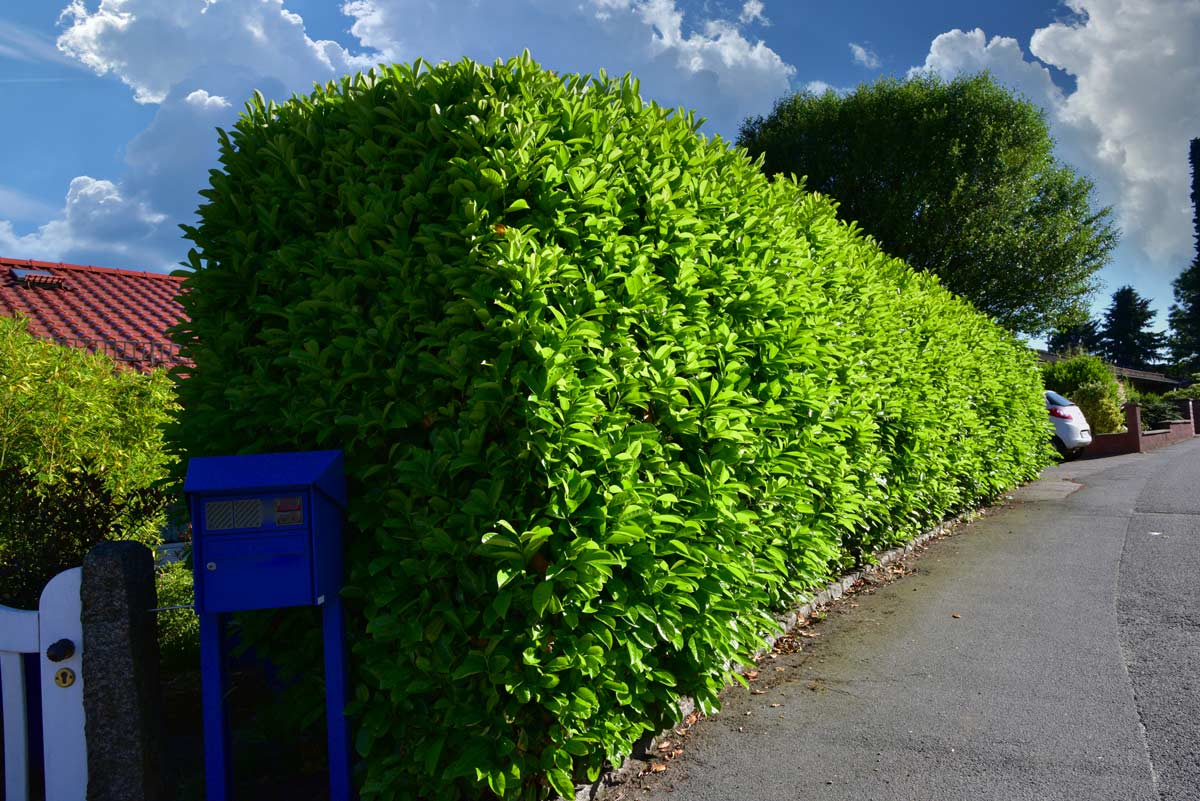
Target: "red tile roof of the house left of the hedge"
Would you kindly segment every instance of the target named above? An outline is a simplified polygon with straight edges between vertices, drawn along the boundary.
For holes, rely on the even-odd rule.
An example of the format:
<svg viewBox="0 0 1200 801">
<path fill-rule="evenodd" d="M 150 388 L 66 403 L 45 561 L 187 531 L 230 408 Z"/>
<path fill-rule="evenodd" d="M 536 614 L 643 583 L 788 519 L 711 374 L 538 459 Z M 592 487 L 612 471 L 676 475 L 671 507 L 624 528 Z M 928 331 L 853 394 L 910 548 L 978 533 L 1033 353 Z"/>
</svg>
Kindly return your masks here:
<svg viewBox="0 0 1200 801">
<path fill-rule="evenodd" d="M 49 276 L 30 275 L 23 270 Z M 35 337 L 107 353 L 138 369 L 179 362 L 167 336 L 184 314 L 182 278 L 0 257 L 0 314 L 29 319 Z"/>
</svg>

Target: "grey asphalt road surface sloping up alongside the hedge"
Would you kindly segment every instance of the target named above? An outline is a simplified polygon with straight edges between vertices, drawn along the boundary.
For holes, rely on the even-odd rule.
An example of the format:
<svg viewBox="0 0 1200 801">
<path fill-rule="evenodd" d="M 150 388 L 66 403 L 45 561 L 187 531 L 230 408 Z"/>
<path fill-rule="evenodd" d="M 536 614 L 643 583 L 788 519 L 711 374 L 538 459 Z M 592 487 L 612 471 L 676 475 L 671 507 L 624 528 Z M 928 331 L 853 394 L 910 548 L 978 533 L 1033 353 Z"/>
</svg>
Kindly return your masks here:
<svg viewBox="0 0 1200 801">
<path fill-rule="evenodd" d="M 907 566 L 618 796 L 1200 800 L 1200 438 L 1052 466 Z"/>
</svg>

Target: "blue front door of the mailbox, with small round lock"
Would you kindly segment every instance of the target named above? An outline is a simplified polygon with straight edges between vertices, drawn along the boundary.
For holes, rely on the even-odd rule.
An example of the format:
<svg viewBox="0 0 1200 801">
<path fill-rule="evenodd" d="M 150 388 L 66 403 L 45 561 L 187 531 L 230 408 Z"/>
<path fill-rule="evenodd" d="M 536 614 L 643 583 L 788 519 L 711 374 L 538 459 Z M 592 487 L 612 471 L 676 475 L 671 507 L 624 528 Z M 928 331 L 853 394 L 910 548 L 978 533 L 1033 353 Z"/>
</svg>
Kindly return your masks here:
<svg viewBox="0 0 1200 801">
<path fill-rule="evenodd" d="M 212 537 L 196 562 L 203 612 L 306 607 L 316 602 L 308 531 Z"/>
</svg>

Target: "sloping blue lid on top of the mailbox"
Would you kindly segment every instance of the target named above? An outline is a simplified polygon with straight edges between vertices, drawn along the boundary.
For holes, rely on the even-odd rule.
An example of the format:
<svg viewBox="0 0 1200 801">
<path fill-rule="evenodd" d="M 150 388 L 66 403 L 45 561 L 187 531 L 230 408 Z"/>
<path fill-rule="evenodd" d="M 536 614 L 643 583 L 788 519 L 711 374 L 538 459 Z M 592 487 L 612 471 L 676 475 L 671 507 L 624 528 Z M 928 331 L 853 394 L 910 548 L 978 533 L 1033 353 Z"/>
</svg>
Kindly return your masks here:
<svg viewBox="0 0 1200 801">
<path fill-rule="evenodd" d="M 316 487 L 346 508 L 346 474 L 341 451 L 295 451 L 198 456 L 187 463 L 187 494 L 256 494 L 289 487 Z"/>
</svg>

